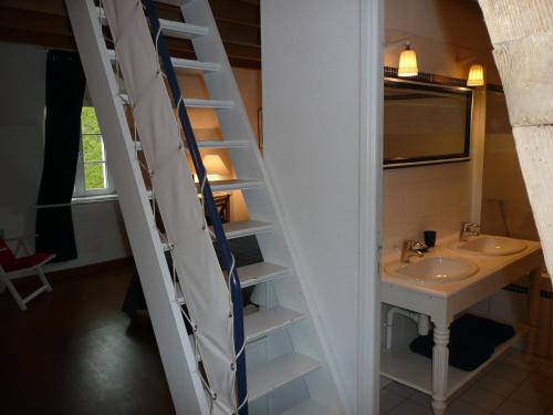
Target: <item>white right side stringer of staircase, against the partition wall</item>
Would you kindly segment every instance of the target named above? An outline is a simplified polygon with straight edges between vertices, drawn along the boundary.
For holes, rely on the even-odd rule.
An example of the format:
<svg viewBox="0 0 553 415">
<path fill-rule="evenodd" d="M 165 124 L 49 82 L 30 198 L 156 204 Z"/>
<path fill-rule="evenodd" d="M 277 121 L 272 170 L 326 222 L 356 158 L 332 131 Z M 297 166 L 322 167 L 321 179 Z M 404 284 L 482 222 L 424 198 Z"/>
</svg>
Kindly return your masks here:
<svg viewBox="0 0 553 415">
<path fill-rule="evenodd" d="M 225 52 L 216 21 L 207 0 L 194 0 L 180 6 L 187 23 L 209 28 L 208 34 L 192 40 L 196 55 L 200 61 L 218 62 L 221 71 L 207 73 L 204 79 L 210 97 L 213 100 L 232 100 L 234 105 L 230 110 L 218 111 L 217 116 L 225 137 L 244 137 L 249 141 L 249 149 L 230 149 L 237 177 L 260 178 L 264 183 L 264 190 L 243 190 L 250 217 L 274 225 L 274 230 L 259 235 L 263 258 L 267 261 L 280 263 L 291 269 L 292 276 L 281 278 L 268 284 L 274 290 L 278 302 L 292 310 L 311 317 L 306 321 L 286 329 L 295 351 L 319 359 L 324 369 L 307 375 L 305 381 L 312 397 L 330 407 L 342 409 L 341 398 L 346 396 L 340 382 L 337 363 L 332 357 L 326 342 L 312 290 L 300 269 L 300 261 L 294 249 L 291 234 L 283 220 L 282 208 L 274 191 L 274 186 L 264 167 L 257 147 L 251 125 L 246 113 L 242 98 L 232 74 L 230 63 Z M 236 121 L 239 120 L 237 123 Z M 226 138 L 227 139 L 227 138 Z M 295 276 L 295 278 L 294 278 Z M 271 336 L 273 338 L 273 336 Z M 270 340 L 271 341 L 271 340 Z M 278 343 L 279 340 L 275 340 Z M 324 372 L 327 378 L 321 378 L 319 372 Z"/>
</svg>

